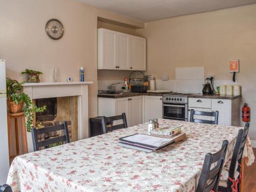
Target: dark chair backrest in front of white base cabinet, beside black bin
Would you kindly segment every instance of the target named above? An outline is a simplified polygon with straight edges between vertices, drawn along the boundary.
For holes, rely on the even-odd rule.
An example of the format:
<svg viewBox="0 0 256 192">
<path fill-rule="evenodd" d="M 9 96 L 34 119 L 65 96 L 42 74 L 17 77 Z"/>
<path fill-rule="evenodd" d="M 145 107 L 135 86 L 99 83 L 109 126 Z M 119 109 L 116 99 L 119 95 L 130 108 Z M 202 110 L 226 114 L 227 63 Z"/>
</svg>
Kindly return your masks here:
<svg viewBox="0 0 256 192">
<path fill-rule="evenodd" d="M 117 124 L 113 125 L 113 123 L 109 126 L 106 126 L 107 122 L 113 122 L 116 120 L 123 120 L 122 124 Z M 102 122 L 102 129 L 103 129 L 103 134 L 112 132 L 114 130 L 122 129 L 122 128 L 127 128 L 127 121 L 126 121 L 126 116 L 125 113 L 122 113 L 122 115 L 117 115 L 117 116 L 112 116 L 112 117 L 101 117 L 101 122 Z"/>
</svg>

